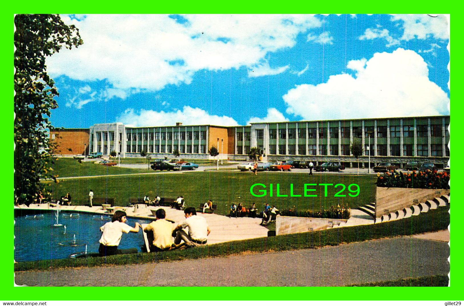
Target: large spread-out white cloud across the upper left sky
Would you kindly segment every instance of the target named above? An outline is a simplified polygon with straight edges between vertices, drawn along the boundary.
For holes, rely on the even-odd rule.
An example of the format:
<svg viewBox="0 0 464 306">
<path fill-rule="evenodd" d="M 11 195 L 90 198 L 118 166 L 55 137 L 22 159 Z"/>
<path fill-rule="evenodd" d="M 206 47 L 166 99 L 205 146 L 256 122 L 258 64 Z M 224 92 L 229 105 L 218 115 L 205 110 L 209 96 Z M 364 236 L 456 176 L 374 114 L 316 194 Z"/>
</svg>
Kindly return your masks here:
<svg viewBox="0 0 464 306">
<path fill-rule="evenodd" d="M 322 25 L 310 15 L 182 17 L 187 22 L 168 15 L 62 16 L 77 26 L 84 44 L 47 58 L 48 72 L 81 81 L 106 79 L 118 90 L 156 91 L 189 84 L 200 69 L 254 67 L 269 52 L 293 47 L 299 33 Z"/>
</svg>

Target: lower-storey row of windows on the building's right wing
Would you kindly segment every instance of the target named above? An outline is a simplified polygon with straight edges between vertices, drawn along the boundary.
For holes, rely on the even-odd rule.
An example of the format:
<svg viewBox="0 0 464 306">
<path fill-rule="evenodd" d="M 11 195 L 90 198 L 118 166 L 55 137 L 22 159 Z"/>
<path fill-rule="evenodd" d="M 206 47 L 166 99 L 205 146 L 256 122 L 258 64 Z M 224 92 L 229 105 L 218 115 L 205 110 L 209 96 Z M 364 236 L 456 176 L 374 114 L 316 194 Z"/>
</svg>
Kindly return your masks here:
<svg viewBox="0 0 464 306">
<path fill-rule="evenodd" d="M 368 145 L 366 144 L 364 147 L 365 155 L 369 155 L 368 153 Z M 350 145 L 349 144 L 342 144 L 340 145 L 341 154 L 343 156 L 350 155 Z M 338 144 L 331 144 L 329 145 L 330 154 L 329 155 L 339 155 L 338 151 Z M 370 145 L 371 155 L 374 156 L 374 144 Z M 237 154 L 248 154 L 250 151 L 250 146 L 237 146 Z M 279 144 L 278 147 L 272 145 L 269 147 L 269 154 L 271 155 L 287 155 L 285 151 L 285 144 Z M 450 151 L 446 147 L 445 148 L 446 156 L 450 156 Z M 296 155 L 296 145 L 289 145 L 288 146 L 288 155 Z M 309 144 L 308 151 L 306 151 L 306 144 L 298 144 L 298 155 L 316 155 L 316 145 Z M 319 145 L 319 155 L 327 155 L 327 145 L 320 144 Z M 377 156 L 387 156 L 387 145 L 386 144 L 378 144 L 377 145 Z M 400 156 L 400 145 L 399 144 L 390 144 L 390 156 Z M 412 144 L 404 144 L 403 145 L 403 156 L 414 156 L 414 150 Z M 428 155 L 428 146 L 426 144 L 418 144 L 417 145 L 417 156 L 429 156 Z M 431 156 L 443 156 L 442 146 L 440 144 L 432 144 L 431 145 Z"/>
</svg>

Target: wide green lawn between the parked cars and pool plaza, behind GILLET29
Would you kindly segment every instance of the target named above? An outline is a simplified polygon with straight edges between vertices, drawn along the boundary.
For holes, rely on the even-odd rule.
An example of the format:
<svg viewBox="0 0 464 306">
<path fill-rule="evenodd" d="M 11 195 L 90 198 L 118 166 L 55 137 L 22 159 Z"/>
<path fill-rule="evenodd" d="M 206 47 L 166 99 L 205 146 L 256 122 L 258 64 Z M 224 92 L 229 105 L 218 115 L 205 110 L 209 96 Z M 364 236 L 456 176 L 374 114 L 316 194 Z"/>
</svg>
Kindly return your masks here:
<svg viewBox="0 0 464 306">
<path fill-rule="evenodd" d="M 78 164 L 81 166 L 81 164 Z M 84 164 L 82 166 L 85 166 Z M 102 167 L 94 165 L 96 167 Z M 122 170 L 117 168 L 106 169 Z M 135 169 L 125 169 L 135 170 Z M 60 171 L 63 171 L 60 169 Z M 140 170 L 139 170 L 140 171 Z M 82 173 L 82 172 L 81 172 Z M 110 174 L 110 173 L 109 173 Z M 73 174 L 75 175 L 75 174 Z M 82 175 L 89 175 L 87 173 Z M 252 202 L 256 202 L 258 209 L 262 209 L 263 204 L 268 202 L 276 205 L 279 209 L 296 207 L 297 210 L 320 210 L 328 208 L 331 205 L 347 204 L 351 208 L 357 208 L 361 205 L 374 202 L 376 177 L 367 175 L 335 175 L 324 174 L 309 176 L 305 173 L 282 173 L 282 172 L 260 172 L 259 175 L 252 175 L 251 172 L 187 172 L 187 173 L 160 173 L 154 175 L 130 175 L 130 176 L 109 176 L 86 179 L 67 179 L 61 180 L 58 184 L 50 182 L 53 198 L 70 192 L 73 202 L 77 205 L 87 203 L 89 189 L 94 191 L 95 197 L 115 198 L 115 205 L 127 205 L 129 198 L 143 197 L 148 194 L 150 197 L 159 195 L 160 197 L 176 198 L 183 195 L 187 206 L 199 206 L 206 200 L 213 200 L 217 205 L 215 213 L 226 215 L 232 202 L 243 203 L 249 207 Z M 250 187 L 253 184 L 264 184 L 255 187 L 254 193 L 264 194 L 258 190 L 266 189 L 266 195 L 255 197 L 250 193 Z M 270 184 L 272 184 L 272 197 L 270 196 Z M 279 184 L 279 194 L 277 197 L 277 184 Z M 292 193 L 290 184 L 293 184 Z M 316 196 L 304 196 L 304 184 L 344 184 L 346 189 L 339 193 L 345 197 L 335 197 L 342 187 L 327 187 L 327 196 L 325 196 L 324 186 L 309 186 L 307 194 Z M 359 195 L 356 197 L 349 196 L 348 185 L 359 185 Z M 354 190 L 354 187 L 351 188 Z M 300 195 L 300 196 L 290 196 Z M 353 193 L 354 194 L 354 193 Z M 282 196 L 287 195 L 287 196 Z"/>
</svg>

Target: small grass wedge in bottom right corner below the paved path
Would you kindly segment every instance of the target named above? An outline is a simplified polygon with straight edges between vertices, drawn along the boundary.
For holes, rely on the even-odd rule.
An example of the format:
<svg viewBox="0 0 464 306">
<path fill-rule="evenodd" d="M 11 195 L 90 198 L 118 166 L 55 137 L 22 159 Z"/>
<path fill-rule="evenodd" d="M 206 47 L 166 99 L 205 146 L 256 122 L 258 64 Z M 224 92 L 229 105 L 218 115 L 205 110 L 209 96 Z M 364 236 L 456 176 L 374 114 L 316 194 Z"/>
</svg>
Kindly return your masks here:
<svg viewBox="0 0 464 306">
<path fill-rule="evenodd" d="M 408 277 L 396 281 L 375 281 L 347 287 L 448 287 L 448 275 Z"/>
</svg>

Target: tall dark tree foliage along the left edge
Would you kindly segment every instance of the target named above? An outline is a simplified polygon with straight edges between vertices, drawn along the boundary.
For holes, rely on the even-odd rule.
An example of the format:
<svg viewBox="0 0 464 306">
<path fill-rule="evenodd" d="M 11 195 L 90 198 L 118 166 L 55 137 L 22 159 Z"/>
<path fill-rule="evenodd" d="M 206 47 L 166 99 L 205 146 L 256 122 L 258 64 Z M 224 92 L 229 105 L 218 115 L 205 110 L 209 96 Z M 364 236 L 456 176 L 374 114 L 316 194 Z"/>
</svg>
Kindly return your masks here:
<svg viewBox="0 0 464 306">
<path fill-rule="evenodd" d="M 46 71 L 45 58 L 82 44 L 78 29 L 58 15 L 19 14 L 14 18 L 14 194 L 19 204 L 30 204 L 42 191 L 39 180 L 53 178 L 49 141 L 50 111 L 58 107 L 55 82 Z"/>
</svg>

